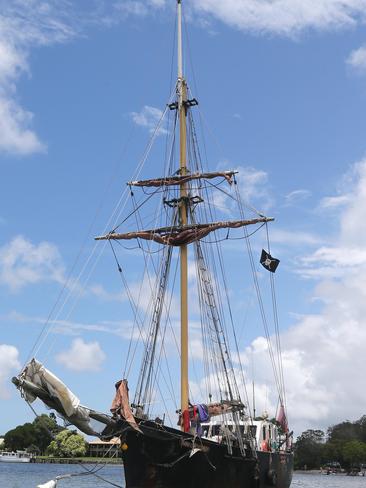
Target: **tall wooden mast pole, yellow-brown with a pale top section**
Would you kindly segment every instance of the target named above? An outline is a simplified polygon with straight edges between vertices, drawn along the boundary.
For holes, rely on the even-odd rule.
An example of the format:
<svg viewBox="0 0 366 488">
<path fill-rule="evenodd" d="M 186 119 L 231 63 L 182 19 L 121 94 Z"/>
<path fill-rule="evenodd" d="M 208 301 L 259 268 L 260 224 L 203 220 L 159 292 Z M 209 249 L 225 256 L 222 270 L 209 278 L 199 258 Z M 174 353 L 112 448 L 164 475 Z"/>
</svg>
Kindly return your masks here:
<svg viewBox="0 0 366 488">
<path fill-rule="evenodd" d="M 182 0 L 178 2 L 178 112 L 180 140 L 180 175 L 187 174 L 187 84 L 183 77 Z M 187 224 L 187 186 L 180 185 L 180 224 Z M 181 411 L 188 409 L 188 248 L 180 248 L 180 313 L 181 313 Z M 184 430 L 184 426 L 182 427 Z"/>
</svg>

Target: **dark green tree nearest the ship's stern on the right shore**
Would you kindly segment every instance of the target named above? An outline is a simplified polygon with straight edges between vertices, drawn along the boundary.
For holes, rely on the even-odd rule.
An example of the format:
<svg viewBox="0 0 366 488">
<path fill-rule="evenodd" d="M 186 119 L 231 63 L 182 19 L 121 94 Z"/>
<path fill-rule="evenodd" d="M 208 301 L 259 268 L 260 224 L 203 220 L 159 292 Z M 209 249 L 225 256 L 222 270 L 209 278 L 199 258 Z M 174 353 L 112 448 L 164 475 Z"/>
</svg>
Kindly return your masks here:
<svg viewBox="0 0 366 488">
<path fill-rule="evenodd" d="M 322 430 L 309 429 L 296 439 L 295 468 L 320 468 L 324 455 L 324 437 Z"/>
</svg>

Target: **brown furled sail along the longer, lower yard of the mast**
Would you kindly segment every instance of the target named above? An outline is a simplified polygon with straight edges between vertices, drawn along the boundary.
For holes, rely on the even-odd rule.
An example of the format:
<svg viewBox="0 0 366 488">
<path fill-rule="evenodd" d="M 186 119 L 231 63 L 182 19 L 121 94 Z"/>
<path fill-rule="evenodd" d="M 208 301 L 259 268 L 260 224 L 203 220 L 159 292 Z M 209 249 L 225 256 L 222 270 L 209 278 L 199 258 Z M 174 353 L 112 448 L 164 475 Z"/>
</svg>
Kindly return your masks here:
<svg viewBox="0 0 366 488">
<path fill-rule="evenodd" d="M 210 232 L 218 229 L 237 229 L 239 227 L 270 222 L 272 220 L 273 218 L 271 217 L 258 217 L 251 220 L 233 220 L 227 222 L 212 222 L 209 224 L 160 227 L 158 229 L 127 232 L 125 234 L 110 232 L 105 236 L 96 237 L 95 240 L 145 239 L 147 241 L 155 241 L 159 244 L 166 244 L 169 246 L 183 246 L 199 241 L 210 234 Z"/>
</svg>

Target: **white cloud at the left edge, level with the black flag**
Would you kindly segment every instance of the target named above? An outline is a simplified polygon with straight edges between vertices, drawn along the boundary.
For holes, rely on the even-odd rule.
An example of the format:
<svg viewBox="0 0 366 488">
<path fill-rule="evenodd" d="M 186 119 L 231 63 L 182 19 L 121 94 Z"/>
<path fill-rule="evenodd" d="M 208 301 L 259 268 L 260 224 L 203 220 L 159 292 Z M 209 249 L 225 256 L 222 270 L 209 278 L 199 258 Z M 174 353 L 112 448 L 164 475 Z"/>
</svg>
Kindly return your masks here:
<svg viewBox="0 0 366 488">
<path fill-rule="evenodd" d="M 43 281 L 64 282 L 61 257 L 54 244 L 32 244 L 17 236 L 0 247 L 0 284 L 16 291 Z"/>
</svg>

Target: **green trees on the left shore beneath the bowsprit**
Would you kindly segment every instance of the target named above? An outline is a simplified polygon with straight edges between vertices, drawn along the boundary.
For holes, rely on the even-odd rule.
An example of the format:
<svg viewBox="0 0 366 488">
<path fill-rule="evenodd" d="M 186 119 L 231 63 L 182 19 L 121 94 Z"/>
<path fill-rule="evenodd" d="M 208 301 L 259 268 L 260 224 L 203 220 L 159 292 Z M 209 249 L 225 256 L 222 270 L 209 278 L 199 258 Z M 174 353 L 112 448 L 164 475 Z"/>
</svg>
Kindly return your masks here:
<svg viewBox="0 0 366 488">
<path fill-rule="evenodd" d="M 86 454 L 87 444 L 76 431 L 59 426 L 55 414 L 51 413 L 9 430 L 3 447 L 8 451 L 24 450 L 37 455 L 81 457 Z"/>
</svg>

